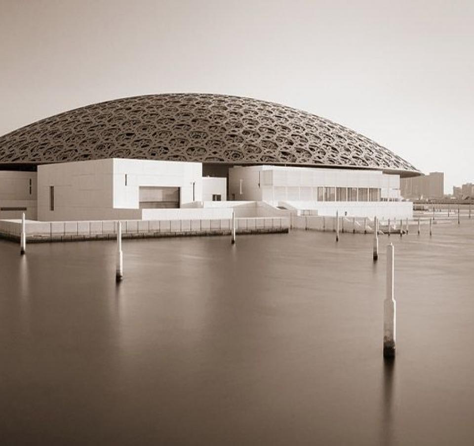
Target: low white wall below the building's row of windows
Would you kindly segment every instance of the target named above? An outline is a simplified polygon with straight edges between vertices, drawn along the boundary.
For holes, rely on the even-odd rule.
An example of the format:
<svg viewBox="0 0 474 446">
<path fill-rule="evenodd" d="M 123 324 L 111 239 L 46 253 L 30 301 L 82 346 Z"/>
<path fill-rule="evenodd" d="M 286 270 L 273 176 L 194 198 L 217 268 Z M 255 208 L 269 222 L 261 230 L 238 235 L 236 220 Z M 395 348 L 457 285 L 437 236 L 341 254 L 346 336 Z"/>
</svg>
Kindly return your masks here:
<svg viewBox="0 0 474 446">
<path fill-rule="evenodd" d="M 282 206 L 298 211 L 316 211 L 320 216 L 340 216 L 347 212 L 348 217 L 374 216 L 381 219 L 412 218 L 413 203 L 411 201 L 285 201 Z"/>
</svg>

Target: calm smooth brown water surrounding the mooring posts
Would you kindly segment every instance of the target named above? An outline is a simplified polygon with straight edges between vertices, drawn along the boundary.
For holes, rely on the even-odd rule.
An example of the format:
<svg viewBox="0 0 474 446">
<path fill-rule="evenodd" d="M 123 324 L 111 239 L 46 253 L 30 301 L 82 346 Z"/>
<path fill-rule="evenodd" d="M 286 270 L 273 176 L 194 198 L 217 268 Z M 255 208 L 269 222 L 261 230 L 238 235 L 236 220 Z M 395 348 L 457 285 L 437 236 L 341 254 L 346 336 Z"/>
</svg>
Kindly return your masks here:
<svg viewBox="0 0 474 446">
<path fill-rule="evenodd" d="M 394 364 L 387 237 L 0 241 L 0 444 L 473 444 L 474 220 L 390 240 Z"/>
</svg>

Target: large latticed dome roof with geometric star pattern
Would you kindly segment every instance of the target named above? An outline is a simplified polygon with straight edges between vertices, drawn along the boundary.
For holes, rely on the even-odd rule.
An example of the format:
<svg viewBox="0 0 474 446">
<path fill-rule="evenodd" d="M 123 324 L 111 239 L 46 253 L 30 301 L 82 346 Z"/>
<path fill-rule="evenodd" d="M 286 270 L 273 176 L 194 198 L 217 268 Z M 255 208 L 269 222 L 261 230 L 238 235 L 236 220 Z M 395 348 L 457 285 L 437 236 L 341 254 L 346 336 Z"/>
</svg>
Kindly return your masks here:
<svg viewBox="0 0 474 446">
<path fill-rule="evenodd" d="M 419 174 L 392 151 L 328 119 L 217 94 L 118 99 L 66 111 L 0 137 L 0 163 L 113 157 Z"/>
</svg>

